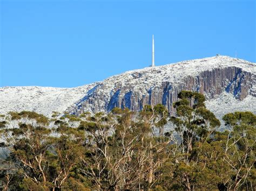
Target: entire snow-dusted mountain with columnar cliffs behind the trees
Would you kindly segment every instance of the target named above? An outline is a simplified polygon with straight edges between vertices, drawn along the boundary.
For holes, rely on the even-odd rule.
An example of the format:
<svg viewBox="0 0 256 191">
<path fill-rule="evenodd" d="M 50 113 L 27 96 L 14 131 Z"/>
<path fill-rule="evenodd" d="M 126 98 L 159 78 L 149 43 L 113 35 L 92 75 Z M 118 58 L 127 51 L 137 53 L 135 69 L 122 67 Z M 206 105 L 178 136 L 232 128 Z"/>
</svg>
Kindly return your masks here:
<svg viewBox="0 0 256 191">
<path fill-rule="evenodd" d="M 144 104 L 172 106 L 181 90 L 206 96 L 206 106 L 217 117 L 236 110 L 256 113 L 256 65 L 228 56 L 187 60 L 114 75 L 102 82 L 76 88 L 3 87 L 0 113 L 32 110 L 80 114 L 111 111 L 114 107 L 140 110 Z"/>
</svg>

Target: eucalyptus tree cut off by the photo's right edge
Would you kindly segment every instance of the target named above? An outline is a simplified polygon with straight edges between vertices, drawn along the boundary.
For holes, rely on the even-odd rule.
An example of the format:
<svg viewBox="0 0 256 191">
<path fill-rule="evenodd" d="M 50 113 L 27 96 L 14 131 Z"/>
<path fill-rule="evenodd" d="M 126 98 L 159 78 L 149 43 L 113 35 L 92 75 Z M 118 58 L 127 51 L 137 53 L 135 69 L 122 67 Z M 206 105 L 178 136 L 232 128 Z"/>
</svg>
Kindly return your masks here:
<svg viewBox="0 0 256 191">
<path fill-rule="evenodd" d="M 230 178 L 224 182 L 227 189 L 253 190 L 256 186 L 256 115 L 252 112 L 234 112 L 223 117 L 232 131 L 226 136 L 224 160 L 230 166 Z"/>
</svg>

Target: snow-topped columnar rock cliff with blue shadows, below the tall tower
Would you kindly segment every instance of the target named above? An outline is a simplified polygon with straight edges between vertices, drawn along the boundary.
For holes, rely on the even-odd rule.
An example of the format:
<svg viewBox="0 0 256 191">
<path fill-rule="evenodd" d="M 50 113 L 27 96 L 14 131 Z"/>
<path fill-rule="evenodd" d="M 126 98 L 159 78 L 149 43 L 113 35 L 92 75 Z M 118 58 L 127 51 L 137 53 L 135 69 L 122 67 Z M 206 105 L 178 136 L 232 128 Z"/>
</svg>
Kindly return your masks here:
<svg viewBox="0 0 256 191">
<path fill-rule="evenodd" d="M 214 56 L 112 76 L 97 83 L 68 111 L 80 114 L 83 111 L 111 111 L 114 107 L 140 110 L 145 104 L 161 103 L 174 114 L 173 102 L 177 101 L 181 90 L 198 91 L 207 100 L 223 93 L 232 94 L 239 101 L 247 96 L 255 100 L 255 83 L 255 63 Z M 255 112 L 256 105 L 252 106 L 254 108 L 248 109 Z"/>
</svg>

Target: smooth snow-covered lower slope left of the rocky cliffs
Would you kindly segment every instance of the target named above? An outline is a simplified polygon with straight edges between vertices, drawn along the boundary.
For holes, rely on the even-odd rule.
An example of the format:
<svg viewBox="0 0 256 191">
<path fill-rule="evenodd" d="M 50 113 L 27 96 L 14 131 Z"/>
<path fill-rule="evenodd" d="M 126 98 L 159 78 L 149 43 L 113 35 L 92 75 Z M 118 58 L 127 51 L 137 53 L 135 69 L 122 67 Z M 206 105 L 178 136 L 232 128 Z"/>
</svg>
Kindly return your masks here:
<svg viewBox="0 0 256 191">
<path fill-rule="evenodd" d="M 65 111 L 95 84 L 76 88 L 3 87 L 0 88 L 0 114 L 28 110 L 51 116 L 52 111 Z"/>
</svg>

